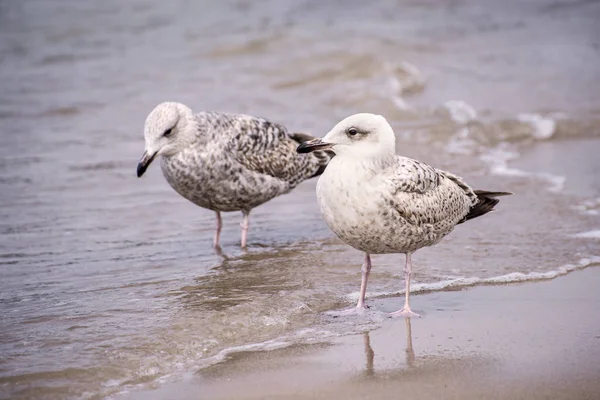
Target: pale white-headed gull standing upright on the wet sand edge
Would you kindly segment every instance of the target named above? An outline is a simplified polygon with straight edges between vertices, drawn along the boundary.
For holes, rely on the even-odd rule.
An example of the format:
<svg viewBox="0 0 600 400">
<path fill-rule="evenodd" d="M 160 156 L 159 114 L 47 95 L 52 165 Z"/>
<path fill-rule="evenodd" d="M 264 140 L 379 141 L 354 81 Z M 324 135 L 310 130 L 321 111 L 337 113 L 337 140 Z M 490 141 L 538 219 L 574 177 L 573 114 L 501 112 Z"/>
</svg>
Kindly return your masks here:
<svg viewBox="0 0 600 400">
<path fill-rule="evenodd" d="M 411 255 L 439 243 L 456 225 L 487 214 L 508 192 L 473 190 L 461 178 L 396 155 L 392 127 L 381 115 L 355 114 L 298 153 L 333 151 L 317 182 L 317 200 L 329 228 L 364 252 L 358 304 L 366 309 L 371 254 L 404 253 L 405 300 L 392 316 L 420 317 L 409 304 Z"/>
</svg>

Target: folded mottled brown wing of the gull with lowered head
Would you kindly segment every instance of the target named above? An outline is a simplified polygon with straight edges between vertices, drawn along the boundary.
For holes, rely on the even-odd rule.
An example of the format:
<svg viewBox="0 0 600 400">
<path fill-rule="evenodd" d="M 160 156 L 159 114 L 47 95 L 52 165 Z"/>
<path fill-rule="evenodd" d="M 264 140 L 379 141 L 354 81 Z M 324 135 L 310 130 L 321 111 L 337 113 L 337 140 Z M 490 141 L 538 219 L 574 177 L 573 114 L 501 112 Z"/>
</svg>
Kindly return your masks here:
<svg viewBox="0 0 600 400">
<path fill-rule="evenodd" d="M 317 157 L 296 152 L 298 140 L 288 135 L 282 125 L 249 115 L 235 115 L 230 127 L 233 134 L 227 150 L 249 170 L 295 185 L 314 176 L 320 168 Z"/>
</svg>

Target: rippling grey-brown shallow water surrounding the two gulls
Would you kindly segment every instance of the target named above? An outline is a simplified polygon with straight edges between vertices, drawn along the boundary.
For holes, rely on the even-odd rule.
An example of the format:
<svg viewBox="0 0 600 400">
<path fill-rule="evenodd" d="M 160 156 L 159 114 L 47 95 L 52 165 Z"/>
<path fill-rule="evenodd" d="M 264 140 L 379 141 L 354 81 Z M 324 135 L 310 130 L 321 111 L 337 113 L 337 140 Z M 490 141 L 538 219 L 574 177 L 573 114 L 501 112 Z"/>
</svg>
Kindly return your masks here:
<svg viewBox="0 0 600 400">
<path fill-rule="evenodd" d="M 597 264 L 600 6 L 511 3 L 1 2 L 0 396 L 104 398 L 377 326 L 322 316 L 362 257 L 315 180 L 253 211 L 247 252 L 227 214 L 217 253 L 213 213 L 135 178 L 167 99 L 316 136 L 378 112 L 399 153 L 517 193 L 413 257 L 421 290 Z M 374 257 L 369 292 L 398 293 L 403 262 Z"/>
</svg>

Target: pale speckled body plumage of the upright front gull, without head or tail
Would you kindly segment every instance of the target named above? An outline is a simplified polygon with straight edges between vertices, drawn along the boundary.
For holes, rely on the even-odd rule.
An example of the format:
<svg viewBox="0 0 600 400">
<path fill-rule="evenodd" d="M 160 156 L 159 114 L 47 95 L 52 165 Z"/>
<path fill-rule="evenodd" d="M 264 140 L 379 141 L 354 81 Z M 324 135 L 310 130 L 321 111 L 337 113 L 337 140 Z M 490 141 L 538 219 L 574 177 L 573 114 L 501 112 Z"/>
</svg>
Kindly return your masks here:
<svg viewBox="0 0 600 400">
<path fill-rule="evenodd" d="M 460 178 L 397 155 L 381 163 L 334 158 L 319 178 L 317 198 L 331 230 L 370 254 L 436 244 L 477 202 Z"/>
</svg>

